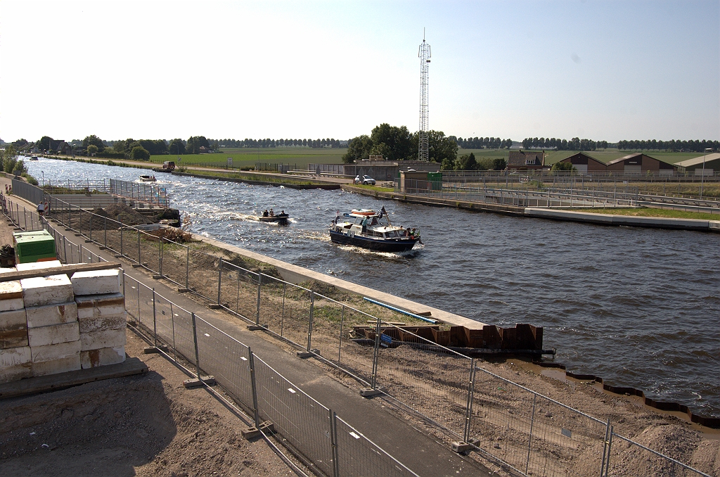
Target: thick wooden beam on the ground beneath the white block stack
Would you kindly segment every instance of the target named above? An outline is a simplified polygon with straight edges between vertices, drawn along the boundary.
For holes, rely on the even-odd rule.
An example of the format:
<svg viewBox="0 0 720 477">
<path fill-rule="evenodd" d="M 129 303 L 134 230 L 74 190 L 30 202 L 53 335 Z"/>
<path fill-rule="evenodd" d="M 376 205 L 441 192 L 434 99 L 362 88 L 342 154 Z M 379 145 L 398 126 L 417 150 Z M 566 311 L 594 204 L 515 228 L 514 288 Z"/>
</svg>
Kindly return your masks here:
<svg viewBox="0 0 720 477">
<path fill-rule="evenodd" d="M 27 394 L 56 391 L 78 384 L 92 383 L 104 379 L 122 378 L 148 372 L 148 365 L 136 357 L 129 357 L 117 365 L 91 367 L 86 370 L 68 371 L 47 376 L 21 379 L 0 384 L 0 399 L 25 396 Z"/>
</svg>

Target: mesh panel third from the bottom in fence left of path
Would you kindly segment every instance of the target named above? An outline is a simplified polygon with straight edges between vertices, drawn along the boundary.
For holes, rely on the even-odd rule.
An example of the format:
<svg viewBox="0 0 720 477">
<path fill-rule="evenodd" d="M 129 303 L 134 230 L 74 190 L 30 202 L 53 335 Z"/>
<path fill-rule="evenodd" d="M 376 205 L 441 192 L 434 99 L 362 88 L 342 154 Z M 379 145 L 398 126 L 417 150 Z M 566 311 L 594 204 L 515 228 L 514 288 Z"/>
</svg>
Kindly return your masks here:
<svg viewBox="0 0 720 477">
<path fill-rule="evenodd" d="M 197 318 L 200 367 L 247 409 L 253 408 L 250 354 L 246 345 Z"/>
</svg>

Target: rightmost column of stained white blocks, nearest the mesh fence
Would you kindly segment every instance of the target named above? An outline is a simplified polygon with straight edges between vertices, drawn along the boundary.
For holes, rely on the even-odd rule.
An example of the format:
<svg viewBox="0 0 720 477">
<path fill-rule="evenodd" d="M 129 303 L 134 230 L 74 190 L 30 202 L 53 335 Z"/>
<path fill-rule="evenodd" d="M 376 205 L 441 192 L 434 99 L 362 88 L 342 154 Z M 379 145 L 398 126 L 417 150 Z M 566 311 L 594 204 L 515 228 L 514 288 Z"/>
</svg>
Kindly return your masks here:
<svg viewBox="0 0 720 477">
<path fill-rule="evenodd" d="M 125 361 L 125 296 L 119 269 L 76 272 L 71 277 L 80 326 L 81 366 Z"/>
</svg>

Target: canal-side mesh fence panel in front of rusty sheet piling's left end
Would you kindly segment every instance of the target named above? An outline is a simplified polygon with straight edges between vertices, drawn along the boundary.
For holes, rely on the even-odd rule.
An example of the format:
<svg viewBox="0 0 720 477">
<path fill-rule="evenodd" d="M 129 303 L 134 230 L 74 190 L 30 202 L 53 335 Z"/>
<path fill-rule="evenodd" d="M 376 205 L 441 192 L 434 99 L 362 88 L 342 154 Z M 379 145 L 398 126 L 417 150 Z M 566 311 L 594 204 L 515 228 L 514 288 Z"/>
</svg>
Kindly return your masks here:
<svg viewBox="0 0 720 477">
<path fill-rule="evenodd" d="M 464 435 L 472 360 L 410 330 L 382 323 L 378 385 L 451 432 Z M 423 329 L 427 331 L 431 329 Z M 375 331 L 367 337 L 374 340 Z"/>
</svg>

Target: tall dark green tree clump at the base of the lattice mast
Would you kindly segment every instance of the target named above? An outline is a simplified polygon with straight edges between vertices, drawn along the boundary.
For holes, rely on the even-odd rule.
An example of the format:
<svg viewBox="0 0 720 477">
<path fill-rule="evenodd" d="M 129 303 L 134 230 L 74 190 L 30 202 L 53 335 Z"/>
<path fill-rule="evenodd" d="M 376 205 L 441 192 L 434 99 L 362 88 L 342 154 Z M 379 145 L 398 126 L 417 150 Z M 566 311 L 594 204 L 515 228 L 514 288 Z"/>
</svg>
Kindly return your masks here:
<svg viewBox="0 0 720 477">
<path fill-rule="evenodd" d="M 418 133 L 410 133 L 405 126 L 391 126 L 387 122 L 373 128 L 370 135 L 359 135 L 348 141 L 348 151 L 343 162 L 366 160 L 369 156 L 382 156 L 388 161 L 411 161 L 418 159 Z M 428 132 L 428 159 L 442 163 L 457 157 L 457 142 L 447 138 L 442 131 Z"/>
</svg>

